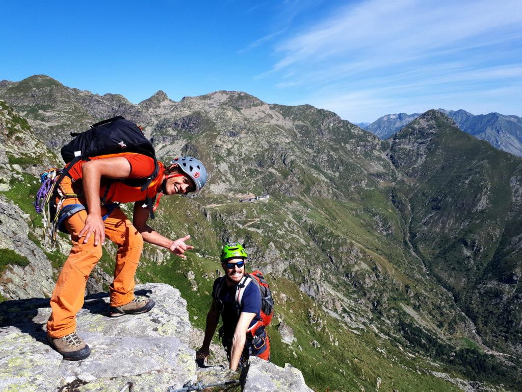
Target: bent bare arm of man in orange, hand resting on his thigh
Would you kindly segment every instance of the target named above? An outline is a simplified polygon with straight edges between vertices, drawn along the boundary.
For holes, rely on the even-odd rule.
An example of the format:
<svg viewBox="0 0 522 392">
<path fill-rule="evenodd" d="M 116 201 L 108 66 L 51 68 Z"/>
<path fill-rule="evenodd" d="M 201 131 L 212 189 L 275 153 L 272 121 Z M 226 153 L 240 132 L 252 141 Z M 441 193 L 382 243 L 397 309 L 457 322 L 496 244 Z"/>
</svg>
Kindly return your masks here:
<svg viewBox="0 0 522 392">
<path fill-rule="evenodd" d="M 100 181 L 105 178 L 127 178 L 131 174 L 131 164 L 124 157 L 89 160 L 81 165 L 82 182 L 87 201 L 87 218 L 79 238 L 85 235 L 87 243 L 94 233 L 94 245 L 105 244 L 105 229 L 101 218 Z"/>
</svg>

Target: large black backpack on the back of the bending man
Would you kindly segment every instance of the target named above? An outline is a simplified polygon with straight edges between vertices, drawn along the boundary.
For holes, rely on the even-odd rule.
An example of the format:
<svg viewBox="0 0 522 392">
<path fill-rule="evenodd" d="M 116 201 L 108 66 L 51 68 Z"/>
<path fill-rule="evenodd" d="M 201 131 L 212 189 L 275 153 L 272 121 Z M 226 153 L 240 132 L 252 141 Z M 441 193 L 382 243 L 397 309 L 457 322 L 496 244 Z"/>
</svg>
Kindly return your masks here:
<svg viewBox="0 0 522 392">
<path fill-rule="evenodd" d="M 61 149 L 62 158 L 69 165 L 64 169 L 57 181 L 58 183 L 67 174 L 69 168 L 73 167 L 79 160 L 123 152 L 144 154 L 154 159 L 154 171 L 149 177 L 146 179 L 125 179 L 123 180 L 125 185 L 141 187 L 141 190 L 144 191 L 158 175 L 159 165 L 152 143 L 145 137 L 138 125 L 122 116 L 100 121 L 92 124 L 90 129 L 85 132 L 71 132 L 70 135 L 75 138 Z M 108 190 L 109 187 L 106 188 L 105 196 Z M 147 198 L 147 204 L 150 216 L 153 219 L 151 198 Z"/>
</svg>

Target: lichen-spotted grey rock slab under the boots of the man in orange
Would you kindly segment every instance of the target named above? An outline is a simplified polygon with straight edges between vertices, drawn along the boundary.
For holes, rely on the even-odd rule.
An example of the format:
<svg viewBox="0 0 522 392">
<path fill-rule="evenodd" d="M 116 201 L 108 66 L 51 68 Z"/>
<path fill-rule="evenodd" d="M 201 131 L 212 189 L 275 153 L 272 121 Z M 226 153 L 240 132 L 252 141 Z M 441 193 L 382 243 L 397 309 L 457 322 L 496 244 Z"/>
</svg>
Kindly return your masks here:
<svg viewBox="0 0 522 392">
<path fill-rule="evenodd" d="M 148 313 L 108 317 L 106 293 L 86 298 L 77 314 L 78 335 L 91 348 L 83 361 L 62 359 L 46 341 L 49 300 L 30 298 L 0 304 L 0 392 L 120 390 L 165 391 L 196 380 L 195 351 L 186 302 L 167 284 L 136 286 L 155 299 Z"/>
</svg>

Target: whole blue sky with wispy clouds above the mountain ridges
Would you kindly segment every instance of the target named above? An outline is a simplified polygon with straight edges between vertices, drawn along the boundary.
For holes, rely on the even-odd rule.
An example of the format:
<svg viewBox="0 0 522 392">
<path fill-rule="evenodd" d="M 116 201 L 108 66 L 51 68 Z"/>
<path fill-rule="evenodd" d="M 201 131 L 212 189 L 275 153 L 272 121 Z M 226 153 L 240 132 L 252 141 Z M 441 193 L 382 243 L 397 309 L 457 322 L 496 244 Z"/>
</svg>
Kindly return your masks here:
<svg viewBox="0 0 522 392">
<path fill-rule="evenodd" d="M 519 0 L 0 2 L 0 79 L 139 102 L 241 90 L 352 122 L 433 108 L 522 116 Z"/>
</svg>

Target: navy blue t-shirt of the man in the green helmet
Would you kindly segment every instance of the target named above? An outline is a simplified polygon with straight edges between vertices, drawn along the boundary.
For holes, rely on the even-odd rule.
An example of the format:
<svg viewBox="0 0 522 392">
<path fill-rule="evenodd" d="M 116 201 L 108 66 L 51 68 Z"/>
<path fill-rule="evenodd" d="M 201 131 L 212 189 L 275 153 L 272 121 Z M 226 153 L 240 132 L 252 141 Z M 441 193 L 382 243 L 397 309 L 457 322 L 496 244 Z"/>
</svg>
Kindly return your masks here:
<svg viewBox="0 0 522 392">
<path fill-rule="evenodd" d="M 216 286 L 222 278 L 218 278 L 214 281 L 214 287 L 212 292 L 215 292 Z M 231 337 L 234 335 L 235 326 L 239 321 L 238 310 L 235 306 L 235 292 L 236 285 L 229 287 L 227 282 L 223 283 L 221 292 L 219 293 L 218 299 L 223 304 L 223 310 L 221 312 L 221 318 L 223 320 L 223 328 L 225 335 Z M 250 322 L 252 327 L 257 321 L 261 319 L 261 293 L 254 282 L 250 282 L 245 288 L 243 299 L 241 301 L 241 312 L 255 313 L 253 320 Z"/>
</svg>

